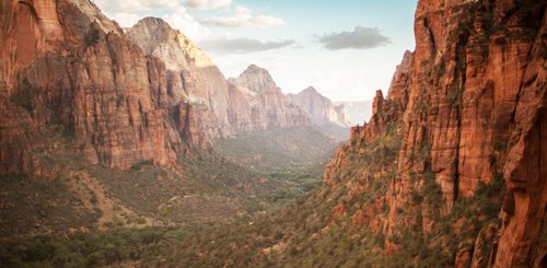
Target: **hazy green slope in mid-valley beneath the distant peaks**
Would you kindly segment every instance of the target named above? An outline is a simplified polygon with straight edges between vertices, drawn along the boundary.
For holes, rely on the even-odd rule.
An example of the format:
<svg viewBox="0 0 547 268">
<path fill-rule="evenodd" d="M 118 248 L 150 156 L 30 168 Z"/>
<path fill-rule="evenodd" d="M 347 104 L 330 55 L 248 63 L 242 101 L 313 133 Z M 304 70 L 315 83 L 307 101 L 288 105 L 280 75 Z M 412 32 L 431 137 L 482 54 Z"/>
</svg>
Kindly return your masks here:
<svg viewBox="0 0 547 268">
<path fill-rule="evenodd" d="M 268 200 L 282 203 L 316 189 L 337 143 L 312 126 L 268 128 L 218 139 L 213 148 L 237 165 L 282 185 Z"/>
</svg>

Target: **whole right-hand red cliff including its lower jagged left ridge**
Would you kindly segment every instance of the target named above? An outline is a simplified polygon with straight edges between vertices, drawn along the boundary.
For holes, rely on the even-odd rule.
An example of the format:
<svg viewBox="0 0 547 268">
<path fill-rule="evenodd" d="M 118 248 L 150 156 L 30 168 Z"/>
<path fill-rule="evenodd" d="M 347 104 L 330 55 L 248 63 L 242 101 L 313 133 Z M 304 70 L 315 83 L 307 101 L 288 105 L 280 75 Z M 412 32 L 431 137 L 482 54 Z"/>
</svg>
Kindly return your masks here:
<svg viewBox="0 0 547 268">
<path fill-rule="evenodd" d="M 369 220 L 375 226 L 380 219 L 386 254 L 408 250 L 397 237 L 414 230 L 409 232 L 417 237 L 431 240 L 430 246 L 450 248 L 450 237 L 476 240 L 470 243 L 475 247 L 463 241 L 456 246 L 459 257 L 453 264 L 544 264 L 546 21 L 539 1 L 419 1 L 416 51 L 405 54 L 387 100 L 376 94 L 370 124 L 352 128 L 350 142 L 325 173 L 327 184 L 339 185 L 345 182 L 340 171 L 356 162 L 351 154 L 386 143 L 394 129 L 403 137 L 397 160 L 386 165 L 395 165 L 395 172 L 369 171 L 373 178 L 362 186 L 382 174 L 391 176 L 387 194 L 375 199 L 388 206 L 386 217 L 361 213 L 376 219 Z M 492 211 L 466 214 L 486 195 L 481 189 L 502 180 L 507 194 L 501 225 L 485 221 Z M 494 193 L 486 196 L 481 203 L 501 205 Z M 481 231 L 473 231 L 473 237 L 446 234 L 444 241 L 432 241 L 435 234 L 430 232 L 447 219 L 453 219 L 451 235 L 470 219 L 477 219 L 473 225 Z M 497 247 L 488 242 L 496 236 L 492 228 L 500 228 Z"/>
</svg>

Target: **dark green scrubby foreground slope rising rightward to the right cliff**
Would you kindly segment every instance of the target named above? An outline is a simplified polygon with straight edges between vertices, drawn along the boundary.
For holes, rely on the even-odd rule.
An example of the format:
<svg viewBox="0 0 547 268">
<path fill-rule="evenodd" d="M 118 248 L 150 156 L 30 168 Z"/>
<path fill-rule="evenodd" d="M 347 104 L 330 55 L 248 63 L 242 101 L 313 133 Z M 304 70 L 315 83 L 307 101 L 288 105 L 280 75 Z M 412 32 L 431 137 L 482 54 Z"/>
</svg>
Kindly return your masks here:
<svg viewBox="0 0 547 268">
<path fill-rule="evenodd" d="M 77 232 L 66 237 L 14 236 L 2 240 L 0 263 L 7 267 L 20 264 L 39 267 L 127 264 L 142 267 L 453 266 L 454 255 L 473 250 L 474 237 L 487 233 L 485 226 L 496 223 L 503 184 L 497 176 L 491 184 L 480 185 L 475 196 L 458 199 L 450 213 L 437 218 L 428 233 L 410 225 L 386 237 L 384 222 L 389 212 L 386 198 L 392 195 L 389 185 L 397 177 L 395 165 L 400 137 L 399 126 L 392 124 L 372 143 L 358 145 L 349 141 L 353 145 L 347 148 L 344 158 L 350 161 L 334 172 L 331 180 L 277 211 L 243 215 L 232 221 L 191 222 L 171 228 L 114 228 L 106 233 Z M 207 165 L 205 163 L 200 160 L 194 165 Z M 189 174 L 213 167 L 200 166 L 193 171 L 191 165 L 187 165 Z M 143 163 L 128 174 L 148 173 L 151 167 Z M 216 175 L 209 176 L 210 182 L 214 182 Z M 228 180 L 225 186 L 232 187 L 234 183 Z M 415 206 L 396 212 L 401 219 L 420 218 L 416 213 L 422 203 L 439 201 L 435 186 L 434 183 L 426 185 L 414 195 Z M 173 185 L 158 187 L 161 191 L 168 191 Z M 151 199 L 142 202 L 146 201 Z M 155 207 L 151 206 L 151 211 Z M 405 250 L 385 255 L 387 241 Z"/>
</svg>

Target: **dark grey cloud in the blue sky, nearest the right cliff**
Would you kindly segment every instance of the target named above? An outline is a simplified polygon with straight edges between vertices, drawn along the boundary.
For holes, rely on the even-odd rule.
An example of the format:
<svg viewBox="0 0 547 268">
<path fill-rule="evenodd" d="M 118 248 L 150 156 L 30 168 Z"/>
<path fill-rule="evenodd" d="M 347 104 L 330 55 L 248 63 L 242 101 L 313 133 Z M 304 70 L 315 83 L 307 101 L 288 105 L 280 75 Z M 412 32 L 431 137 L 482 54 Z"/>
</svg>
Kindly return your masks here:
<svg viewBox="0 0 547 268">
<path fill-rule="evenodd" d="M 331 33 L 315 37 L 329 50 L 370 49 L 392 44 L 389 38 L 382 35 L 376 27 L 357 26 L 353 32 Z"/>
</svg>

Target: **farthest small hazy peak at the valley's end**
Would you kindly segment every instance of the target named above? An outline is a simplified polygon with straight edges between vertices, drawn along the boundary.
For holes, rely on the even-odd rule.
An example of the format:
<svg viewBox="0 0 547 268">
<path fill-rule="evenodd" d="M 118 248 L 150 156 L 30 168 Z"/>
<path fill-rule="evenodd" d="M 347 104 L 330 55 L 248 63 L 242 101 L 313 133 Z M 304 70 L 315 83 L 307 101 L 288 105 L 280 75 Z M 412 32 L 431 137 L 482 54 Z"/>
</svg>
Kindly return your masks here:
<svg viewBox="0 0 547 268">
<path fill-rule="evenodd" d="M 335 124 L 342 128 L 348 128 L 351 125 L 344 105 L 333 105 L 330 100 L 319 94 L 313 86 L 299 94 L 288 94 L 288 97 L 306 112 L 310 119 L 316 125 Z"/>
</svg>

